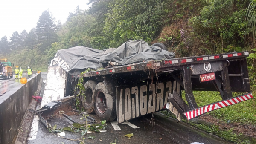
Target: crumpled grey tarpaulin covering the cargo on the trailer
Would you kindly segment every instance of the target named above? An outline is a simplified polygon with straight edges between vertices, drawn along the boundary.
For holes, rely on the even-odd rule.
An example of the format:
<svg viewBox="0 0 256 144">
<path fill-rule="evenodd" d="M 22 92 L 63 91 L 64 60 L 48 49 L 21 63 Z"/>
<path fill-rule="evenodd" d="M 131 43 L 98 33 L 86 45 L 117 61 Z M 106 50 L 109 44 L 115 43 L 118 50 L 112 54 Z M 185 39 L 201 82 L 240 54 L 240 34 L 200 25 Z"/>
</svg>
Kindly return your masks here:
<svg viewBox="0 0 256 144">
<path fill-rule="evenodd" d="M 99 69 L 108 62 L 116 62 L 118 66 L 149 60 L 175 58 L 175 53 L 162 50 L 158 46 L 148 46 L 144 40 L 127 41 L 117 49 L 92 49 L 76 46 L 61 49 L 55 55 L 52 65 L 58 64 L 70 74 L 79 74 L 87 68 Z"/>
</svg>

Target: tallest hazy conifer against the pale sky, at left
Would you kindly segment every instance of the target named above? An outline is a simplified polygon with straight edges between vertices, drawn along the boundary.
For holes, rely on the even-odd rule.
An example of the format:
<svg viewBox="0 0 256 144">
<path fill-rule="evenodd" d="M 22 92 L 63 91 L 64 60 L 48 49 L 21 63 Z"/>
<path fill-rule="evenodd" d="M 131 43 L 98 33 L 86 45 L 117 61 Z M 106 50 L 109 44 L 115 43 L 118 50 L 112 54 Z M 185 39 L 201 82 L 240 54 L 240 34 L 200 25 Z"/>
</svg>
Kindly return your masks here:
<svg viewBox="0 0 256 144">
<path fill-rule="evenodd" d="M 42 52 L 57 41 L 55 18 L 52 17 L 52 13 L 49 10 L 44 11 L 39 17 L 36 33 L 39 42 L 42 44 Z"/>
</svg>

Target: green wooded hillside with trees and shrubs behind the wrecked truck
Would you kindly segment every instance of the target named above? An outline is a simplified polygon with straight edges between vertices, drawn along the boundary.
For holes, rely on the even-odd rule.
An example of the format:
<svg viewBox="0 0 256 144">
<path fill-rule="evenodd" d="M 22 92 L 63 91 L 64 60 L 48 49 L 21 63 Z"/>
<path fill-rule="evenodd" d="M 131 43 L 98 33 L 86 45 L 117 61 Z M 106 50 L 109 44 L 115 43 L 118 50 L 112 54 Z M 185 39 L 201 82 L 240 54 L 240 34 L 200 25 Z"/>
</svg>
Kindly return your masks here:
<svg viewBox="0 0 256 144">
<path fill-rule="evenodd" d="M 88 10 L 77 6 L 63 24 L 56 22 L 49 10 L 42 12 L 29 32 L 13 32 L 9 41 L 6 36 L 0 39 L 0 58 L 46 71 L 47 62 L 59 49 L 117 48 L 127 40 L 138 39 L 148 44 L 164 43 L 169 51 L 176 52 L 176 57 L 247 50 L 255 95 L 256 0 L 89 0 L 88 4 Z M 216 93 L 197 94 L 199 105 L 220 98 Z M 211 100 L 201 98 L 206 94 L 212 95 Z M 255 106 L 252 100 L 211 115 L 223 121 L 256 124 Z"/>
</svg>

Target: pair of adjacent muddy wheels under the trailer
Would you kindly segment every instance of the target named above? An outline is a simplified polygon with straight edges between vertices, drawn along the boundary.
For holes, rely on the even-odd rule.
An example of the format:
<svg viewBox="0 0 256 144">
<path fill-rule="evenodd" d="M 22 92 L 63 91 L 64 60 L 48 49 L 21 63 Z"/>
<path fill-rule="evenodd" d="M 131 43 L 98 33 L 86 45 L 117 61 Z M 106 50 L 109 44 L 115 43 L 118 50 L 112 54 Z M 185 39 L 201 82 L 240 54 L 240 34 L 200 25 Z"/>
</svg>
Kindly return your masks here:
<svg viewBox="0 0 256 144">
<path fill-rule="evenodd" d="M 89 80 L 84 84 L 82 104 L 87 113 L 96 113 L 100 120 L 113 121 L 116 118 L 116 95 L 108 92 L 103 82 L 96 84 Z"/>
</svg>

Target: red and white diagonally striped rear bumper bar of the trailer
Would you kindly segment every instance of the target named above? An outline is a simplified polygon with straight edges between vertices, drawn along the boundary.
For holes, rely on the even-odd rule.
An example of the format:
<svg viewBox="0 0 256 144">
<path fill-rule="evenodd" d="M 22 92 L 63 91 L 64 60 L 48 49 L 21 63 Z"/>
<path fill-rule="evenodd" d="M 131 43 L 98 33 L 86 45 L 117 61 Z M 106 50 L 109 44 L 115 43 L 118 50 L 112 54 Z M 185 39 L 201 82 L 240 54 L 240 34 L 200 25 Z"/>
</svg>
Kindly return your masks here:
<svg viewBox="0 0 256 144">
<path fill-rule="evenodd" d="M 202 115 L 204 113 L 213 111 L 215 109 L 220 109 L 220 108 L 223 108 L 223 107 L 227 107 L 227 106 L 230 106 L 232 104 L 237 104 L 237 103 L 240 103 L 242 101 L 246 101 L 246 100 L 249 100 L 249 99 L 252 99 L 252 98 L 253 98 L 252 93 L 248 93 L 248 94 L 245 94 L 245 95 L 239 95 L 239 96 L 231 98 L 229 100 L 219 101 L 219 102 L 214 103 L 214 104 L 209 104 L 209 105 L 206 105 L 206 106 L 203 106 L 203 107 L 199 107 L 198 109 L 193 109 L 191 111 L 184 112 L 183 114 L 186 115 L 188 120 L 190 120 L 192 118 L 195 118 L 195 117 L 197 117 L 199 115 Z"/>
</svg>

